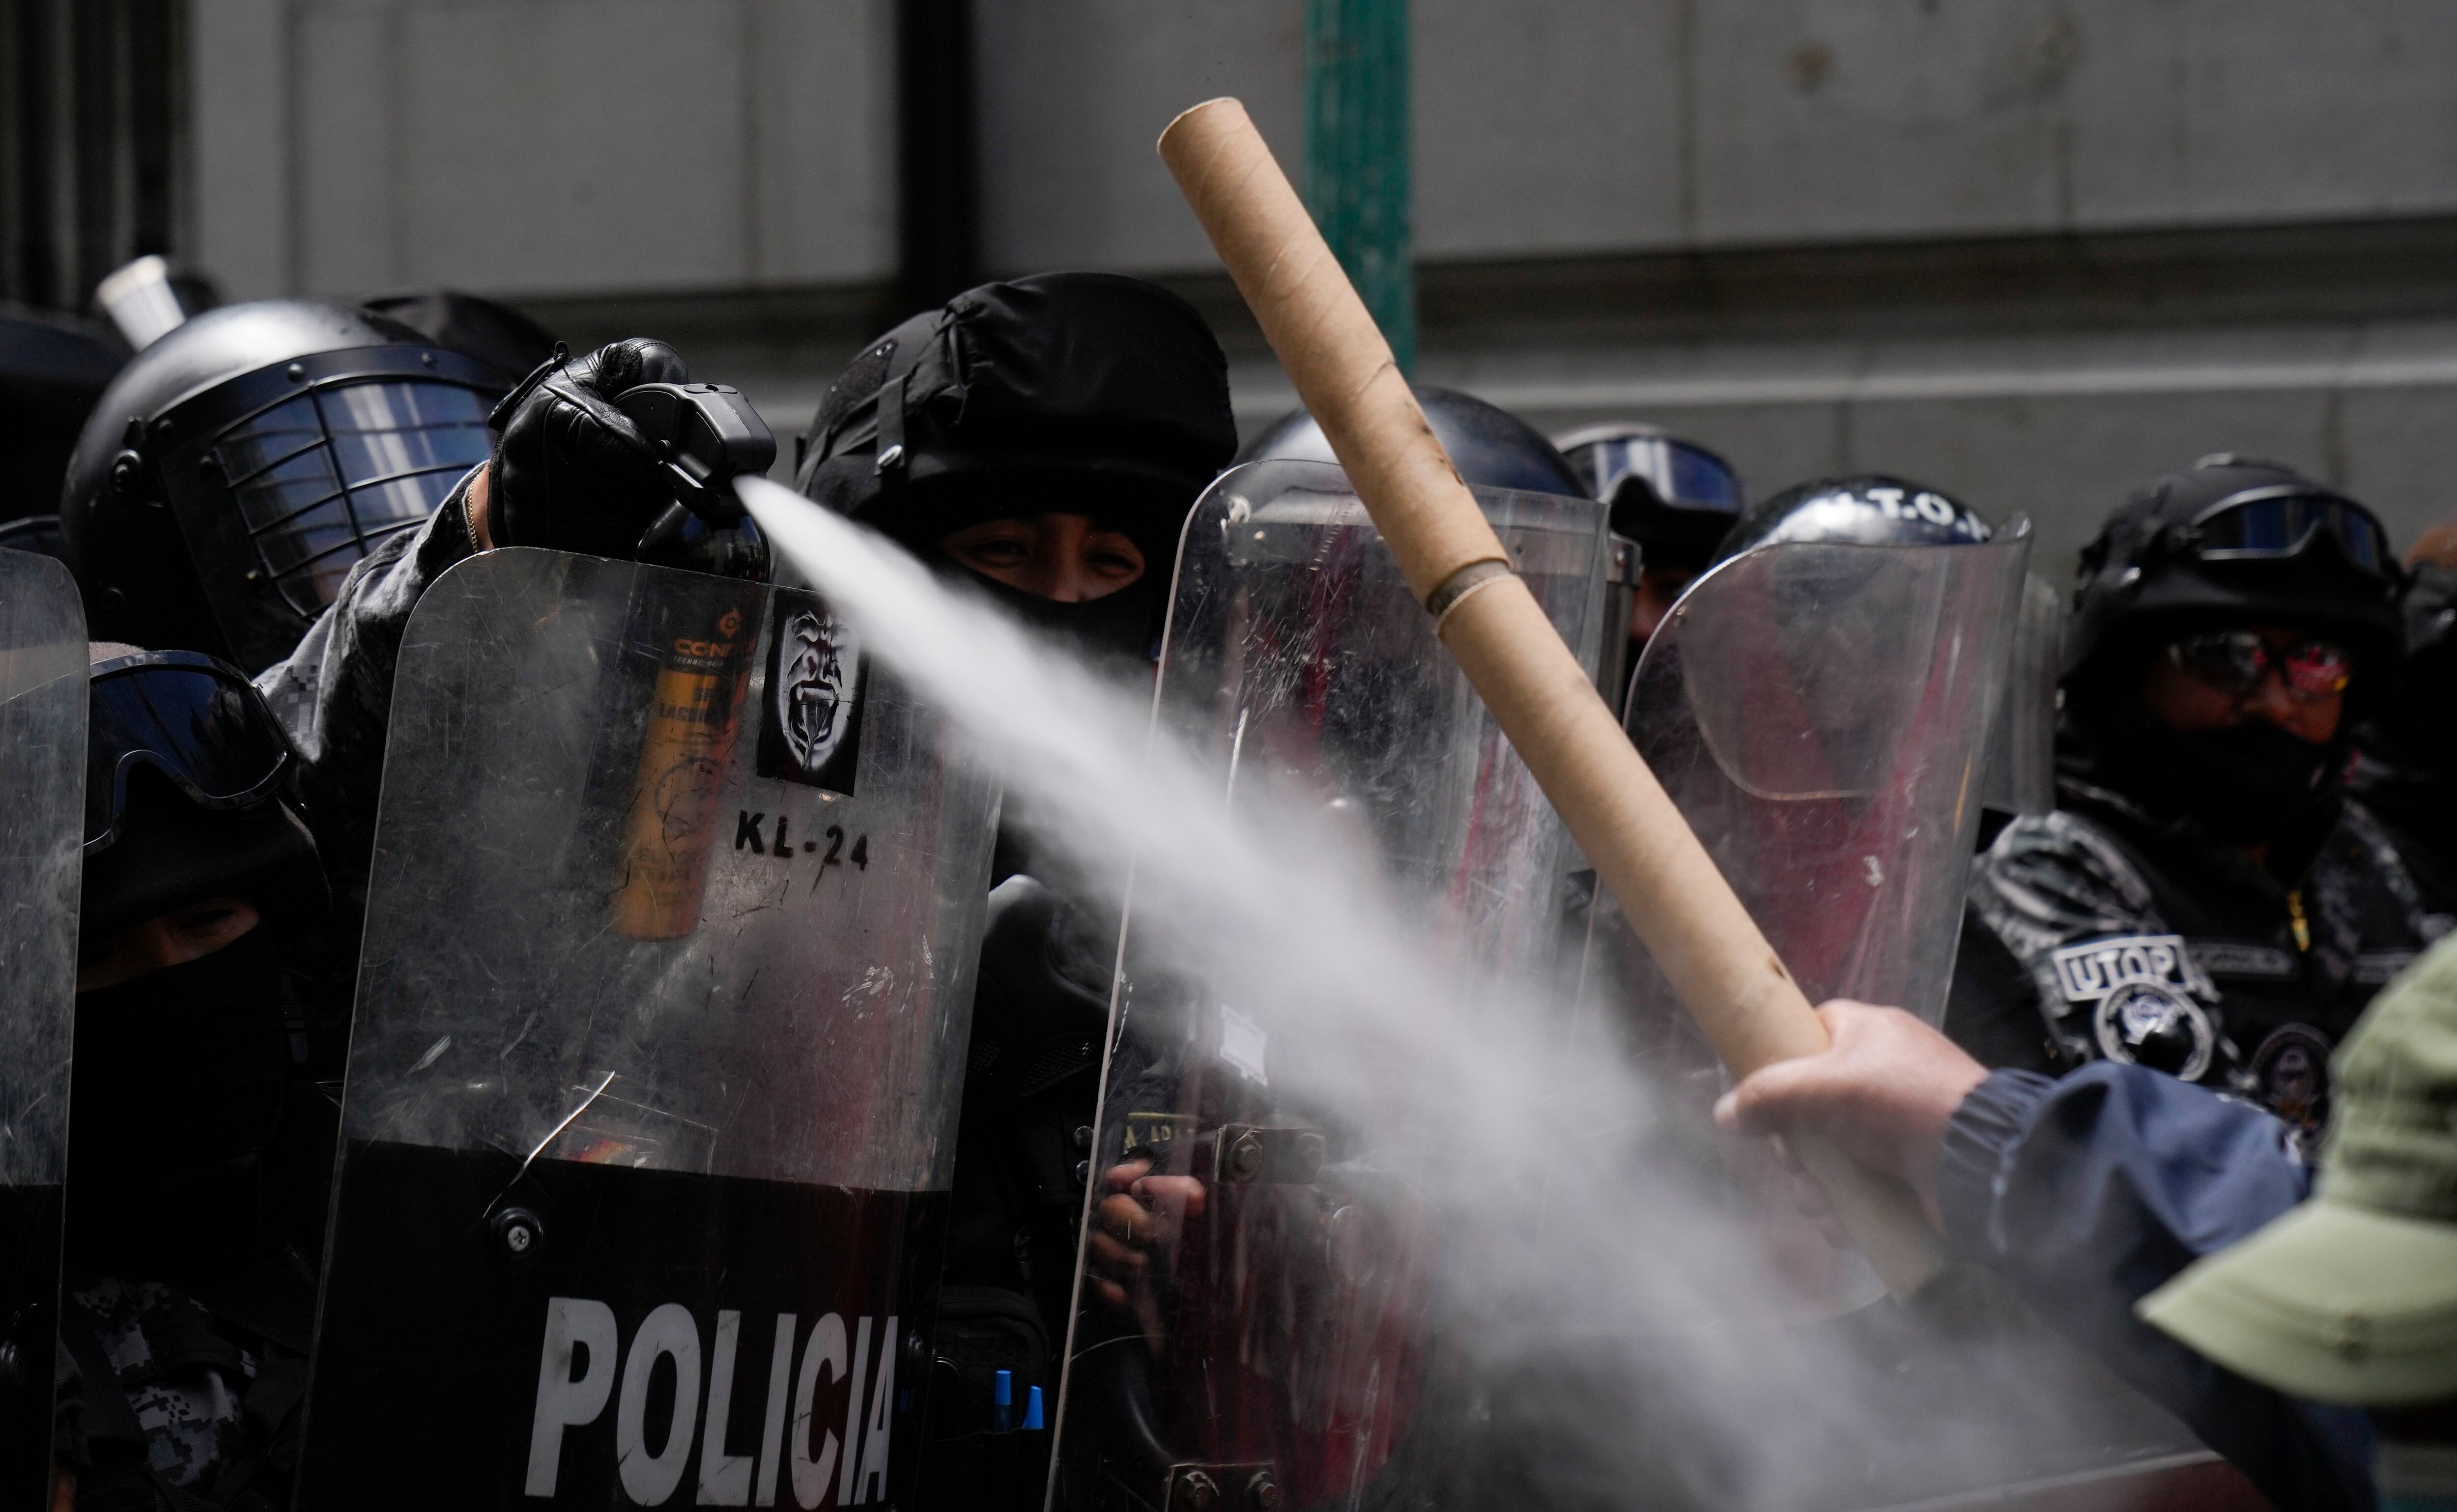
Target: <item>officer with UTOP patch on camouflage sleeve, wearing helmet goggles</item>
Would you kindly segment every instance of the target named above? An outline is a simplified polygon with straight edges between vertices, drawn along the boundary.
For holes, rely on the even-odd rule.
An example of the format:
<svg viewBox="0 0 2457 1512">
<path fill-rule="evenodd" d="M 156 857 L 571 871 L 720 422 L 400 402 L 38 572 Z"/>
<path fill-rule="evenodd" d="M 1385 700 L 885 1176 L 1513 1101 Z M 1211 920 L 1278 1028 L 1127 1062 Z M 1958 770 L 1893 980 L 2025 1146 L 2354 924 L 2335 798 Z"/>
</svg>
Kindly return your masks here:
<svg viewBox="0 0 2457 1512">
<path fill-rule="evenodd" d="M 2057 801 L 1980 858 L 1948 1030 L 1990 1065 L 2128 1060 L 2319 1128 L 2327 1062 L 2430 919 L 2342 797 L 2400 649 L 2378 519 L 2204 457 L 2081 553 Z"/>
</svg>

